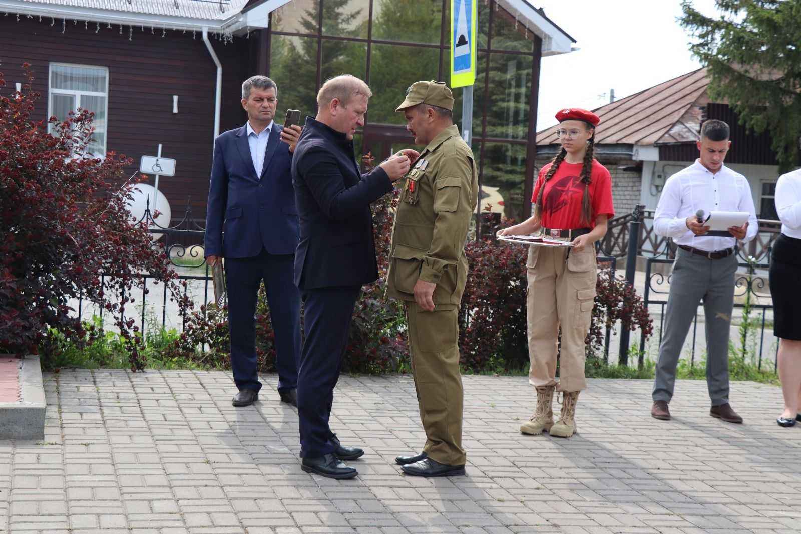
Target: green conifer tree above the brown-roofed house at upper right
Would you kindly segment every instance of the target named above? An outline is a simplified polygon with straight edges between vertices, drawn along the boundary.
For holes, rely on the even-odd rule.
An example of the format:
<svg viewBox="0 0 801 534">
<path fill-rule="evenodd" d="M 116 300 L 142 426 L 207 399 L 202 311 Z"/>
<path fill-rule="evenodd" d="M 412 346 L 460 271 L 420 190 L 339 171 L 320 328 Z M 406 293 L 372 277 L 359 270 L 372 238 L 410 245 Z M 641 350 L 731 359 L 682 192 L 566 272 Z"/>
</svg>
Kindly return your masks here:
<svg viewBox="0 0 801 534">
<path fill-rule="evenodd" d="M 716 0 L 719 18 L 682 2 L 710 96 L 730 103 L 756 134 L 770 132 L 781 172 L 799 164 L 801 0 Z"/>
</svg>

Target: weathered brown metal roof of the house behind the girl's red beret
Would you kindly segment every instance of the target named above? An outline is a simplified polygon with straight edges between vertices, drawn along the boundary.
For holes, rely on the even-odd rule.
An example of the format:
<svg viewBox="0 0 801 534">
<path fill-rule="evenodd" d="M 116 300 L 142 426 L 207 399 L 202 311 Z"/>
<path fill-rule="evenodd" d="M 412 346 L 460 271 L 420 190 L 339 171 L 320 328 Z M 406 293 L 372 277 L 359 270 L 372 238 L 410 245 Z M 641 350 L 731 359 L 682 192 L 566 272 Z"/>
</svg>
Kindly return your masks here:
<svg viewBox="0 0 801 534">
<path fill-rule="evenodd" d="M 592 110 L 601 119 L 595 144 L 659 145 L 698 139 L 709 102 L 706 68 Z M 558 124 L 537 132 L 537 145 L 558 143 Z"/>
</svg>

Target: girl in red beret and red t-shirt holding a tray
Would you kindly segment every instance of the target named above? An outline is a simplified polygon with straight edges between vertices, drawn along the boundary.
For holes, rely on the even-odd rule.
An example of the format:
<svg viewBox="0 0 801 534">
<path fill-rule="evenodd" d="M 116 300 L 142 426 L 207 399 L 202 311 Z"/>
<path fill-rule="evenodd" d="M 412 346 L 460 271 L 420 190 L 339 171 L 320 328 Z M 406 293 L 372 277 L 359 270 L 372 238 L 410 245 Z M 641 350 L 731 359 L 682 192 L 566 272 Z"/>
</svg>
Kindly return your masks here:
<svg viewBox="0 0 801 534">
<path fill-rule="evenodd" d="M 537 409 L 520 431 L 568 438 L 576 431 L 578 392 L 585 390 L 586 345 L 595 282 L 595 241 L 606 235 L 614 216 L 609 171 L 593 159 L 598 115 L 583 109 L 558 111 L 562 150 L 542 168 L 531 199 L 534 214 L 498 237 L 541 233 L 570 246 L 529 247 L 526 313 L 529 333 L 529 383 L 537 388 Z M 559 380 L 557 346 L 562 330 Z M 553 422 L 553 390 L 562 393 L 562 414 Z"/>
</svg>

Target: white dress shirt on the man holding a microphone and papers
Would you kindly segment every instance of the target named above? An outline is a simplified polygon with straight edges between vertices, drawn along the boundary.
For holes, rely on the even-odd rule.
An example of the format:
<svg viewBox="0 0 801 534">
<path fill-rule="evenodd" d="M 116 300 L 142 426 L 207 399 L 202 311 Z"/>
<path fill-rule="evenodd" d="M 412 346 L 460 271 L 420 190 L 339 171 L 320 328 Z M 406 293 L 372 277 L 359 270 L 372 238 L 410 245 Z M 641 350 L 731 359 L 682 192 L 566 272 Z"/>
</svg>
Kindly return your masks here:
<svg viewBox="0 0 801 534">
<path fill-rule="evenodd" d="M 776 191 L 779 198 L 779 191 Z M 754 198 L 748 180 L 739 172 L 721 165 L 717 173 L 710 172 L 695 160 L 665 183 L 654 216 L 654 232 L 658 236 L 672 237 L 677 245 L 714 252 L 731 249 L 735 237 L 696 236 L 687 228 L 686 219 L 702 209 L 710 212 L 748 212 L 748 230 L 743 243 L 751 241 L 759 231 Z"/>
</svg>

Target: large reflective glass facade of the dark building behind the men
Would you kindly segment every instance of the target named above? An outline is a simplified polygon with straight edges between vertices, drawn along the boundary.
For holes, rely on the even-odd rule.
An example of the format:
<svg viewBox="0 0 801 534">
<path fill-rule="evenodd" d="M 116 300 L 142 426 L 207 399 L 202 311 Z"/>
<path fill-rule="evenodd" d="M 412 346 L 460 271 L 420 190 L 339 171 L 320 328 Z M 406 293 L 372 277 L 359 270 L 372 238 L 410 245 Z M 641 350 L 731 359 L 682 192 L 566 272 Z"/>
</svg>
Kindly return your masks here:
<svg viewBox="0 0 801 534">
<path fill-rule="evenodd" d="M 326 79 L 343 73 L 364 79 L 373 96 L 356 151 L 382 159 L 412 143 L 404 115 L 395 111 L 409 85 L 449 83 L 449 10 L 450 0 L 293 0 L 270 15 L 268 74 L 279 83 L 282 102 L 308 115 L 315 114 Z M 479 212 L 492 204 L 493 212 L 515 220 L 529 215 L 540 51 L 540 38 L 524 22 L 478 0 L 471 133 Z M 461 89 L 453 96 L 453 119 L 461 127 Z"/>
</svg>

